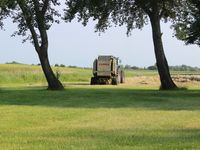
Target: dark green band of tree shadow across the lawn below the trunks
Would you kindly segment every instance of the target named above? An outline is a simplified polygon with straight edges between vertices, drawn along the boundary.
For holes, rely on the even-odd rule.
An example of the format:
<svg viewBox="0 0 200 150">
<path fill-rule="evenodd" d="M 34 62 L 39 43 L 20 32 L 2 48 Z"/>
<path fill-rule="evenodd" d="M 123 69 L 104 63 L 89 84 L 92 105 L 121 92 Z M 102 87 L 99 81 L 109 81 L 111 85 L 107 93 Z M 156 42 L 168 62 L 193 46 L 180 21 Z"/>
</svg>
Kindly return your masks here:
<svg viewBox="0 0 200 150">
<path fill-rule="evenodd" d="M 138 108 L 152 110 L 200 110 L 200 90 L 133 90 L 119 88 L 67 88 L 0 90 L 0 105 L 64 108 Z"/>
</svg>

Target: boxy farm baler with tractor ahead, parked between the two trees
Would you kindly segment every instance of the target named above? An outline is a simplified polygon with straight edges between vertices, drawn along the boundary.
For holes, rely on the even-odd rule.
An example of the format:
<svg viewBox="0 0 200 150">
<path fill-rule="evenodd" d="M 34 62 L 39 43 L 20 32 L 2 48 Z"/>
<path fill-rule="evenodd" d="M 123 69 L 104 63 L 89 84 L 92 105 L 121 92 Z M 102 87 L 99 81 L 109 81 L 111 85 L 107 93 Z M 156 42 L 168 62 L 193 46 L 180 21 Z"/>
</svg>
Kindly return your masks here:
<svg viewBox="0 0 200 150">
<path fill-rule="evenodd" d="M 123 67 L 119 65 L 119 58 L 114 56 L 98 56 L 93 63 L 93 77 L 91 85 L 112 84 L 117 85 L 125 82 Z"/>
</svg>

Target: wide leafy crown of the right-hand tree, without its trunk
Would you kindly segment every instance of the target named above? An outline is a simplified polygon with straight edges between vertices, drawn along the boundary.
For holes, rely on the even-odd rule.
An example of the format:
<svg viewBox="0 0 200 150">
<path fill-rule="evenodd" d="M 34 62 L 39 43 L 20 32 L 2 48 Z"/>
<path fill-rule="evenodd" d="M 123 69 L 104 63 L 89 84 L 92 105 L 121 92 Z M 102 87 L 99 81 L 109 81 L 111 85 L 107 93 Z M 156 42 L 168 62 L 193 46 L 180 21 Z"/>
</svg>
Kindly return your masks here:
<svg viewBox="0 0 200 150">
<path fill-rule="evenodd" d="M 177 0 L 67 0 L 65 20 L 72 21 L 75 17 L 87 25 L 90 18 L 97 20 L 96 30 L 105 31 L 115 25 L 126 25 L 127 33 L 132 29 L 141 29 L 148 23 L 148 16 L 152 15 L 155 4 L 158 6 L 160 19 L 174 19 L 176 10 L 181 2 Z"/>
</svg>

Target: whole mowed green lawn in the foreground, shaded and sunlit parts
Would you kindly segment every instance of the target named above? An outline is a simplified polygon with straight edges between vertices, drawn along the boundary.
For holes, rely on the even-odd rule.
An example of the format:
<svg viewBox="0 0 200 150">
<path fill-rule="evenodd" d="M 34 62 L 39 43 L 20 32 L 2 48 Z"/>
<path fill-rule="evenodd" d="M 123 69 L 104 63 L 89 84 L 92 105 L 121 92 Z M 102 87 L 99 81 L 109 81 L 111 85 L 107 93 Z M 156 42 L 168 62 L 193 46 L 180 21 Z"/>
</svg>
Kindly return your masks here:
<svg viewBox="0 0 200 150">
<path fill-rule="evenodd" d="M 0 149 L 198 150 L 200 90 L 0 88 Z"/>
</svg>

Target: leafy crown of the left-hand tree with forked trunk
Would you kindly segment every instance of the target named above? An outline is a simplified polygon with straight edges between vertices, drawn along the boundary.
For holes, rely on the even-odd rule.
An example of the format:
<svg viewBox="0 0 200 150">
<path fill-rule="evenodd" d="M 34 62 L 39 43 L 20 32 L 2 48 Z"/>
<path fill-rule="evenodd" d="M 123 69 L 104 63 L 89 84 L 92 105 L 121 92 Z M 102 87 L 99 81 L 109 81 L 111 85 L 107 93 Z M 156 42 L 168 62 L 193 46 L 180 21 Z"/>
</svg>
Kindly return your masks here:
<svg viewBox="0 0 200 150">
<path fill-rule="evenodd" d="M 12 36 L 25 36 L 23 42 L 32 41 L 32 35 L 27 32 L 30 26 L 40 38 L 39 26 L 48 30 L 54 22 L 59 23 L 61 15 L 55 8 L 60 5 L 58 0 L 9 0 L 7 2 L 4 4 L 7 14 L 1 14 L 1 17 L 9 16 L 13 23 L 18 24 L 18 30 Z"/>
</svg>

